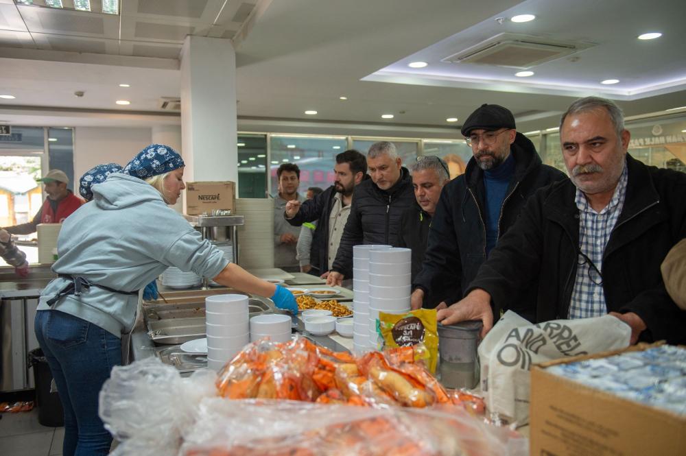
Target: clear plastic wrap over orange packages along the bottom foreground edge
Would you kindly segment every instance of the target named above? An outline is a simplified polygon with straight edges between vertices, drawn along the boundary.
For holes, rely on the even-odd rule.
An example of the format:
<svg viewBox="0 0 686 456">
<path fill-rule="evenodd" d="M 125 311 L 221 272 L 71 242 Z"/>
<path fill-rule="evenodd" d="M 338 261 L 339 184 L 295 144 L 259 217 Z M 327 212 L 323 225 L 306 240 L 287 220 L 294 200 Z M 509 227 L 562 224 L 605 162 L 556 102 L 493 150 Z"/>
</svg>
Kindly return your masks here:
<svg viewBox="0 0 686 456">
<path fill-rule="evenodd" d="M 204 399 L 183 456 L 525 456 L 528 440 L 456 407 Z"/>
</svg>

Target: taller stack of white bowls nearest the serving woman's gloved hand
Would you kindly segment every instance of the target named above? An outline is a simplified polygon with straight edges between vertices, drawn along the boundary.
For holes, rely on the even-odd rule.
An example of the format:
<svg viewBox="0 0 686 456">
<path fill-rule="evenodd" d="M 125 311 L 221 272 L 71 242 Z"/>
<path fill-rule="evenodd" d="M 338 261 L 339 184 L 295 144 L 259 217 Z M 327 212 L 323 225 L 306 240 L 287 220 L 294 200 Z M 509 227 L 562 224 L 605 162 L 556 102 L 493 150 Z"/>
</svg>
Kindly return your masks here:
<svg viewBox="0 0 686 456">
<path fill-rule="evenodd" d="M 250 342 L 248 296 L 208 296 L 205 315 L 207 367 L 218 371 Z"/>
</svg>

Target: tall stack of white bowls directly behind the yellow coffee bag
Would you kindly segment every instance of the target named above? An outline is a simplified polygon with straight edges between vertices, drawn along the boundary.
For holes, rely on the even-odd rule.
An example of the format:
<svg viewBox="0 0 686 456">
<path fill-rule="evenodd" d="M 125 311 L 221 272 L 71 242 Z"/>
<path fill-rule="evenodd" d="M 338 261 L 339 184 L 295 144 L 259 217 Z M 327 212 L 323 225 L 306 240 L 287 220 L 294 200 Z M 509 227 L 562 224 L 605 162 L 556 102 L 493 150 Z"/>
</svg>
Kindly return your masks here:
<svg viewBox="0 0 686 456">
<path fill-rule="evenodd" d="M 369 343 L 378 348 L 379 312 L 410 311 L 412 288 L 412 250 L 406 248 L 373 249 L 369 252 Z"/>
</svg>

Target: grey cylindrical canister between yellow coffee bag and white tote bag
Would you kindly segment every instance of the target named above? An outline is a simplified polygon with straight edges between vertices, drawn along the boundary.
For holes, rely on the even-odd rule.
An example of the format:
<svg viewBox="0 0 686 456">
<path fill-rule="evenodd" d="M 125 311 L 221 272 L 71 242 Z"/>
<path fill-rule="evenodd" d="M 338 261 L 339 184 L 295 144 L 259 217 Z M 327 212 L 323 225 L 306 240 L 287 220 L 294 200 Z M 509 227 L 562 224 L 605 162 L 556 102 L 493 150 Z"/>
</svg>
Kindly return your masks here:
<svg viewBox="0 0 686 456">
<path fill-rule="evenodd" d="M 482 326 L 480 321 L 438 324 L 438 372 L 445 387 L 472 389 L 479 384 L 477 346 Z"/>
</svg>

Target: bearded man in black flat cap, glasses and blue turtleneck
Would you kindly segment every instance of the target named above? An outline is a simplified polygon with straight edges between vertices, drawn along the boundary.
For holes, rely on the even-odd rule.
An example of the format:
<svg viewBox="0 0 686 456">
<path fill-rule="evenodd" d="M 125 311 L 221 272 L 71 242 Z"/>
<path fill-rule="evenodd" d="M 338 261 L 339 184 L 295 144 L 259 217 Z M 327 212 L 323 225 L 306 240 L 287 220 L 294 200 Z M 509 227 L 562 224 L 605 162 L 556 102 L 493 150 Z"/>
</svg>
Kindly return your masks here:
<svg viewBox="0 0 686 456">
<path fill-rule="evenodd" d="M 551 182 L 566 179 L 561 171 L 543 165 L 533 143 L 517 132 L 512 112 L 502 106 L 483 104 L 466 119 L 461 131 L 473 157 L 464 174 L 440 195 L 422 270 L 412 282 L 413 309 L 422 306 L 429 291 L 432 296 L 449 294 L 453 283 L 460 284 L 460 294 L 446 296 L 445 302 L 460 300 L 528 197 Z M 532 317 L 525 310 L 530 307 L 526 306 L 529 298 L 523 296 L 521 306 L 512 303 L 508 309 Z"/>
</svg>

